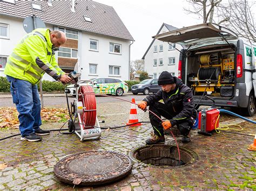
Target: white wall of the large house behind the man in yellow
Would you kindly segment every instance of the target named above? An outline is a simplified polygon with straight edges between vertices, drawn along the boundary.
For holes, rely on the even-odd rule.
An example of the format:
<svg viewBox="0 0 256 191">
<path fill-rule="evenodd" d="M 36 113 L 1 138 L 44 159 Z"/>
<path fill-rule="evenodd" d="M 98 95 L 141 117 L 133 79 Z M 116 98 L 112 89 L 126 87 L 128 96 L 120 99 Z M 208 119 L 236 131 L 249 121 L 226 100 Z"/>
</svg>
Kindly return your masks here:
<svg viewBox="0 0 256 191">
<path fill-rule="evenodd" d="M 8 57 L 19 40 L 26 34 L 23 29 L 23 19 L 1 16 L 0 24 L 8 26 L 8 38 L 0 36 L 0 59 Z M 56 26 L 46 24 L 50 30 L 57 29 Z M 90 39 L 97 40 L 98 50 L 90 49 Z M 120 45 L 120 53 L 110 52 L 110 43 Z M 129 45 L 130 40 L 103 36 L 96 33 L 79 31 L 78 60 L 82 69 L 82 79 L 92 77 L 117 77 L 129 80 Z M 56 55 L 57 56 L 57 55 Z M 90 74 L 90 64 L 97 66 L 96 74 Z M 112 67 L 112 74 L 110 74 Z M 0 76 L 5 76 L 4 68 L 0 68 Z M 113 72 L 114 71 L 114 72 Z M 43 80 L 53 80 L 45 74 Z"/>
</svg>

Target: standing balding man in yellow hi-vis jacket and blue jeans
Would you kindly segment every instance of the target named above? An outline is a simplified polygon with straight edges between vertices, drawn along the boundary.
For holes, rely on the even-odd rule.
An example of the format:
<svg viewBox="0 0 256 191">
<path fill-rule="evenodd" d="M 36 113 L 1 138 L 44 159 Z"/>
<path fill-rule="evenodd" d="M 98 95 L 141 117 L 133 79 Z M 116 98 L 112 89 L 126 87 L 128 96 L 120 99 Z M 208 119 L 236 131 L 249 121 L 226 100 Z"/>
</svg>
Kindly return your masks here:
<svg viewBox="0 0 256 191">
<path fill-rule="evenodd" d="M 10 82 L 12 99 L 19 112 L 21 140 L 36 142 L 42 140 L 41 135 L 50 133 L 40 128 L 41 101 L 37 84 L 44 73 L 63 83 L 71 80 L 55 59 L 55 51 L 65 42 L 62 31 L 36 29 L 19 41 L 8 58 L 4 74 Z"/>
</svg>

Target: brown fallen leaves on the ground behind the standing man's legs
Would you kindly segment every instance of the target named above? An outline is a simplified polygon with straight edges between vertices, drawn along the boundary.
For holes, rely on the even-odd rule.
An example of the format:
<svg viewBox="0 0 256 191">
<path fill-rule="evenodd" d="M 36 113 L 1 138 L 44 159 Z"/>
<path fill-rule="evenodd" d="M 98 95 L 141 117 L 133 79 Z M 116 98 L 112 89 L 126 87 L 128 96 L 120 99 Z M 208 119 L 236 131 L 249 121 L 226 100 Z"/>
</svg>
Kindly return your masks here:
<svg viewBox="0 0 256 191">
<path fill-rule="evenodd" d="M 44 108 L 41 110 L 42 121 L 63 122 L 69 119 L 68 110 L 65 108 Z M 18 129 L 18 111 L 14 107 L 3 107 L 0 109 L 0 129 Z"/>
</svg>

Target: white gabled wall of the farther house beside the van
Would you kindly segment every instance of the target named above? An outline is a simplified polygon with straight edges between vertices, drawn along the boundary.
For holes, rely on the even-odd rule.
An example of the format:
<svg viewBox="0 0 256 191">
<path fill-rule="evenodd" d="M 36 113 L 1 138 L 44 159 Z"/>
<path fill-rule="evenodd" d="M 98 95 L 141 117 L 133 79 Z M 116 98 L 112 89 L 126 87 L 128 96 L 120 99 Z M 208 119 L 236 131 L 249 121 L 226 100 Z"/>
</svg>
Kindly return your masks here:
<svg viewBox="0 0 256 191">
<path fill-rule="evenodd" d="M 168 32 L 166 26 L 160 30 L 160 33 Z M 177 49 L 182 47 L 175 44 Z M 168 71 L 173 76 L 178 76 L 178 63 L 180 52 L 173 48 L 166 42 L 160 40 L 154 40 L 153 44 L 149 48 L 145 55 L 145 71 L 150 77 L 158 78 L 161 72 Z"/>
</svg>

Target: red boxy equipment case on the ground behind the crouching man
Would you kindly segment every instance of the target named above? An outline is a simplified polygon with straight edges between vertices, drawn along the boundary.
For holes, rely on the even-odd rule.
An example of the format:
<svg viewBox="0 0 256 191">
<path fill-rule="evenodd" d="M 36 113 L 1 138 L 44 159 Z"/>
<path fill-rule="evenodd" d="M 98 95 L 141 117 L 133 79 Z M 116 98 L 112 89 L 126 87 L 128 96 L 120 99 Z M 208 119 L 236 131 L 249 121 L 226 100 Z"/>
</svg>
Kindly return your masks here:
<svg viewBox="0 0 256 191">
<path fill-rule="evenodd" d="M 215 101 L 208 96 L 205 96 L 213 101 L 212 107 L 210 109 L 203 109 L 198 115 L 198 131 L 199 134 L 212 136 L 212 131 L 215 130 L 215 126 L 218 128 L 219 119 L 218 116 L 220 111 L 215 108 Z"/>
</svg>

